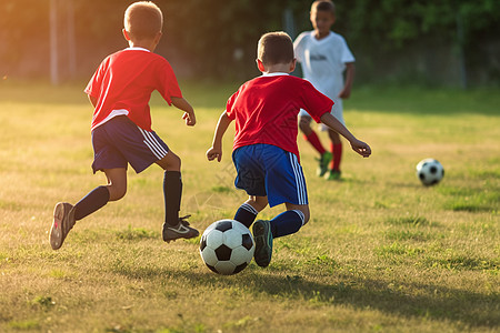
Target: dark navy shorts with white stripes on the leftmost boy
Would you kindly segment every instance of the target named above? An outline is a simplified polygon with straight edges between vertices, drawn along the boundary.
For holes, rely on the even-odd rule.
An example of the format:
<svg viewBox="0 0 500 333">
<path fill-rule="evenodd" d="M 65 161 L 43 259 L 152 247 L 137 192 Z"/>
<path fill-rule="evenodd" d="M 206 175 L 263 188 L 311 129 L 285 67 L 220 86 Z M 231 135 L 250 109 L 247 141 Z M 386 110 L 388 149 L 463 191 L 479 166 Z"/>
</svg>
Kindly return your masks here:
<svg viewBox="0 0 500 333">
<path fill-rule="evenodd" d="M 127 115 L 117 115 L 92 131 L 92 170 L 126 168 L 137 173 L 161 160 L 168 145 L 153 131 L 139 128 Z"/>
</svg>

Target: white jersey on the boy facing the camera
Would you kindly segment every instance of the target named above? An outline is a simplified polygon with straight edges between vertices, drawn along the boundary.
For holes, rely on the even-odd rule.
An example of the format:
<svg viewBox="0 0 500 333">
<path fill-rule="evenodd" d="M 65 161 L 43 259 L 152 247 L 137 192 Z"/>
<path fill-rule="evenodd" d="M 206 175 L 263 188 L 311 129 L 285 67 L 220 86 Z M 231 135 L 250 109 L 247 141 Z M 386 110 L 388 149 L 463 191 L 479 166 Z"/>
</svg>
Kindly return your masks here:
<svg viewBox="0 0 500 333">
<path fill-rule="evenodd" d="M 302 64 L 303 78 L 330 99 L 337 100 L 343 88 L 346 63 L 354 62 L 343 37 L 330 31 L 326 38 L 318 40 L 314 31 L 306 31 L 293 42 L 293 50 Z"/>
</svg>

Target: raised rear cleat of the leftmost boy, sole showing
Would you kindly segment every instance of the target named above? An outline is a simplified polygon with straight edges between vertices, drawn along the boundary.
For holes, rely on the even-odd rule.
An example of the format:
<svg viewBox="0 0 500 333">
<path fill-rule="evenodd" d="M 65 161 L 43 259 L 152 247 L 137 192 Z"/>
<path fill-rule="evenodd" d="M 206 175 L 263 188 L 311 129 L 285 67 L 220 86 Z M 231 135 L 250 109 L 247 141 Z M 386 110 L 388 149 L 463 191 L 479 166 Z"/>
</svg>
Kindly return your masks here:
<svg viewBox="0 0 500 333">
<path fill-rule="evenodd" d="M 49 242 L 53 250 L 62 246 L 66 236 L 74 223 L 73 205 L 68 202 L 59 202 L 53 209 L 53 222 L 50 229 Z"/>
</svg>

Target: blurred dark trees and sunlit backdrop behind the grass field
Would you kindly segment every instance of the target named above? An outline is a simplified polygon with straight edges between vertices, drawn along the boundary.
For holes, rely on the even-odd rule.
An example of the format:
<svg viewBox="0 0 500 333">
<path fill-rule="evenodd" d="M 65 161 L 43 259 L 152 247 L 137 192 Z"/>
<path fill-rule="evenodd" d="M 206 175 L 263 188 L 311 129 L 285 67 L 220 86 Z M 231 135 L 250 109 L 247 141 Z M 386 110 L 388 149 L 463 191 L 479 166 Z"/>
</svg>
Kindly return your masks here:
<svg viewBox="0 0 500 333">
<path fill-rule="evenodd" d="M 124 0 L 0 0 L 0 78 L 88 80 L 127 43 Z M 164 16 L 157 52 L 180 79 L 247 80 L 259 72 L 268 31 L 311 30 L 312 1 L 157 0 Z M 500 85 L 499 0 L 334 1 L 333 31 L 357 58 L 358 83 Z M 298 73 L 300 74 L 300 73 Z"/>
</svg>

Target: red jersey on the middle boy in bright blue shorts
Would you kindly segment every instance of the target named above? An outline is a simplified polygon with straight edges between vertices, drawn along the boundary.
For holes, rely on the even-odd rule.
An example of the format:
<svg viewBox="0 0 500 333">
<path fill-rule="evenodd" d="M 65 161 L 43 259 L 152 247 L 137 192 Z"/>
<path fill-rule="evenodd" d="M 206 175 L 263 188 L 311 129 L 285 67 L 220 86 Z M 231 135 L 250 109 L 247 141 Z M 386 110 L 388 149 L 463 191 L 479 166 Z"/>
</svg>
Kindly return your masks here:
<svg viewBox="0 0 500 333">
<path fill-rule="evenodd" d="M 277 145 L 299 158 L 298 119 L 304 109 L 316 122 L 333 101 L 303 79 L 286 73 L 250 80 L 228 100 L 226 113 L 236 120 L 233 149 L 256 143 Z"/>
</svg>

